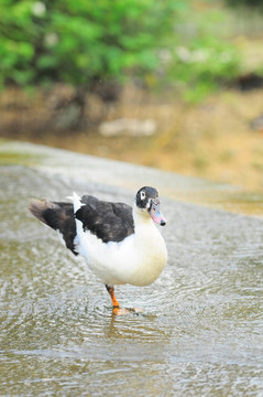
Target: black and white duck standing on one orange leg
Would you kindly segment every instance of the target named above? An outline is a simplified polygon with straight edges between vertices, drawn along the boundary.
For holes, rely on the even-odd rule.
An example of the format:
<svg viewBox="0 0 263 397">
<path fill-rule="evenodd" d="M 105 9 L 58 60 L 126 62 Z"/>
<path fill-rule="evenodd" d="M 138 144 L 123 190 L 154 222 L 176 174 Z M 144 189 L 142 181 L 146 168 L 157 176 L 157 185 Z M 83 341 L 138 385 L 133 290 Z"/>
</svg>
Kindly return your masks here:
<svg viewBox="0 0 263 397">
<path fill-rule="evenodd" d="M 158 192 L 143 186 L 133 207 L 92 195 L 72 202 L 32 198 L 29 210 L 55 229 L 74 255 L 85 258 L 89 269 L 105 283 L 112 308 L 120 309 L 117 285 L 144 287 L 153 283 L 167 262 L 165 240 L 157 225 L 165 226 Z"/>
</svg>

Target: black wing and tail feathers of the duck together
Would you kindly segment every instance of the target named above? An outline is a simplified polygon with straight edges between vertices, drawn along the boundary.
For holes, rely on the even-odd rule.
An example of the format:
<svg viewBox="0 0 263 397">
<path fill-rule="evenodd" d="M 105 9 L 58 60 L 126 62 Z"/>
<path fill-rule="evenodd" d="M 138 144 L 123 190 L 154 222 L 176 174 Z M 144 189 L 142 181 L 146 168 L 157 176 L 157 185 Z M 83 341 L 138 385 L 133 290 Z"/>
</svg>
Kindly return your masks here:
<svg viewBox="0 0 263 397">
<path fill-rule="evenodd" d="M 100 201 L 90 195 L 81 197 L 83 206 L 74 214 L 72 203 L 31 200 L 30 211 L 41 222 L 58 230 L 75 255 L 75 217 L 83 223 L 84 230 L 89 230 L 103 243 L 121 242 L 134 233 L 132 207 L 123 203 Z"/>
</svg>

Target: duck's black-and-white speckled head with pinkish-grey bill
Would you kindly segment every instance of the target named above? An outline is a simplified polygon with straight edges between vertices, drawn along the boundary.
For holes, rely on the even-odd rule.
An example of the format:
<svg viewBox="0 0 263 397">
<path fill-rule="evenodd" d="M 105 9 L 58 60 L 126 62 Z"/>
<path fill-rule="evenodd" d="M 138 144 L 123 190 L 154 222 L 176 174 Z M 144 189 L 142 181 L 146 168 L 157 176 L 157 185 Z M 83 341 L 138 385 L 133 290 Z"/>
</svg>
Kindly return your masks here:
<svg viewBox="0 0 263 397">
<path fill-rule="evenodd" d="M 158 192 L 155 187 L 141 187 L 135 196 L 135 205 L 142 212 L 147 213 L 158 225 L 166 225 L 166 219 L 160 210 Z"/>
</svg>

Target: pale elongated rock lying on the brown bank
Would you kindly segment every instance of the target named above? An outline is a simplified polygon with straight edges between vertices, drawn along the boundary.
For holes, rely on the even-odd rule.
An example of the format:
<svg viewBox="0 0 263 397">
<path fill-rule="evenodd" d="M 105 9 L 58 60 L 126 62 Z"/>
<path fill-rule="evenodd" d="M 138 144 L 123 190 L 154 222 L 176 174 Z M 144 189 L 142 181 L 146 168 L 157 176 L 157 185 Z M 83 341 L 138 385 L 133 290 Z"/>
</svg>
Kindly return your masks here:
<svg viewBox="0 0 263 397">
<path fill-rule="evenodd" d="M 156 122 L 154 120 L 121 118 L 102 122 L 99 126 L 99 133 L 103 137 L 145 137 L 154 132 L 156 132 Z"/>
</svg>

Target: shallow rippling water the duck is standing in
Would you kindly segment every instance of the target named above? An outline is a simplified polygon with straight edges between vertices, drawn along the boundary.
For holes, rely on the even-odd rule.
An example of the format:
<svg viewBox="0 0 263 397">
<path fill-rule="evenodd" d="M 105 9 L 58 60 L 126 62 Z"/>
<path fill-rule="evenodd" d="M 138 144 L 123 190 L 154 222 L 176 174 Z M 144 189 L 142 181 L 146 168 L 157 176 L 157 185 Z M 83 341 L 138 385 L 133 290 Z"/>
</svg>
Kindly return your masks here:
<svg viewBox="0 0 263 397">
<path fill-rule="evenodd" d="M 263 396 L 263 219 L 174 198 L 213 205 L 234 189 L 21 143 L 1 152 L 1 396 Z M 144 184 L 161 191 L 169 259 L 154 285 L 117 287 L 143 308 L 118 316 L 28 200 L 76 190 L 132 204 Z"/>
</svg>

